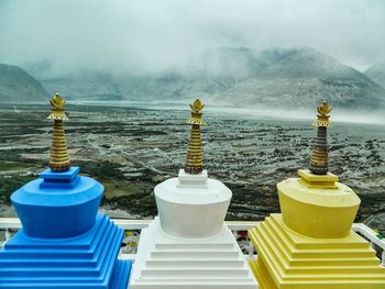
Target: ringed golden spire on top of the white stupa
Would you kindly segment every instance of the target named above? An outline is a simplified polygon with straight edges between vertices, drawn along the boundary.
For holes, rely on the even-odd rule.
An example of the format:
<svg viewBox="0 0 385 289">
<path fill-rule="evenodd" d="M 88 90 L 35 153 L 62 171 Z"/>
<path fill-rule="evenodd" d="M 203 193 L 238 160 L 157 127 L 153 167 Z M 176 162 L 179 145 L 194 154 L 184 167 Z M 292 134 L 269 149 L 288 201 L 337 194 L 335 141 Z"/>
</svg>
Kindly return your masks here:
<svg viewBox="0 0 385 289">
<path fill-rule="evenodd" d="M 204 170 L 202 143 L 200 138 L 200 125 L 205 124 L 201 113 L 204 107 L 200 100 L 196 99 L 190 104 L 191 116 L 187 121 L 187 123 L 191 124 L 191 135 L 188 143 L 185 171 L 194 175 Z"/>
</svg>

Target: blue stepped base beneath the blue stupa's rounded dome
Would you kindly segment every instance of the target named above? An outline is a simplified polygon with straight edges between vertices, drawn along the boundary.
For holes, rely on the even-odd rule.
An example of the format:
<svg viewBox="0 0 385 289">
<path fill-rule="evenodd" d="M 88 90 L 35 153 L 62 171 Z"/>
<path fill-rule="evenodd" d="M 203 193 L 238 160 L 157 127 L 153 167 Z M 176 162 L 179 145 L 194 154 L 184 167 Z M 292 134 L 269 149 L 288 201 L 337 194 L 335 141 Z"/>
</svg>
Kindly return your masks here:
<svg viewBox="0 0 385 289">
<path fill-rule="evenodd" d="M 125 289 L 131 262 L 117 259 L 122 238 L 105 214 L 72 238 L 35 238 L 21 229 L 0 249 L 0 288 Z"/>
</svg>

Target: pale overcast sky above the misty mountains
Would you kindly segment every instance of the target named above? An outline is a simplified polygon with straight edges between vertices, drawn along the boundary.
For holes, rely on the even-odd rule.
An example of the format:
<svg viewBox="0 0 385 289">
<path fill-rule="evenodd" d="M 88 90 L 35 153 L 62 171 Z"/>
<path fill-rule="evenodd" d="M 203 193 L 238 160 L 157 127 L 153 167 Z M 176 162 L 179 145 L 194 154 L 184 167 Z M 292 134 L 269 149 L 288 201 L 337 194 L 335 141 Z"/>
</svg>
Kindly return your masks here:
<svg viewBox="0 0 385 289">
<path fill-rule="evenodd" d="M 201 51 L 312 46 L 360 70 L 385 58 L 383 0 L 0 0 L 0 63 L 160 70 Z"/>
</svg>

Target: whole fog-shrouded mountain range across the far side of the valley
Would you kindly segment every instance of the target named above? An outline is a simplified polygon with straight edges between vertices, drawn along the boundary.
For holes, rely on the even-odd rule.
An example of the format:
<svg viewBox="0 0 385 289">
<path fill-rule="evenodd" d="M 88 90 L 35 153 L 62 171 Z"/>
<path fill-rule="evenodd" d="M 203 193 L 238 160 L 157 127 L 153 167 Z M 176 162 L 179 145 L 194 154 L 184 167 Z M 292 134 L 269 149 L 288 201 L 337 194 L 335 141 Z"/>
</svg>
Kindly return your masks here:
<svg viewBox="0 0 385 289">
<path fill-rule="evenodd" d="M 385 103 L 384 88 L 309 47 L 222 47 L 191 55 L 157 74 L 82 71 L 43 79 L 43 85 L 70 98 L 114 95 L 125 100 L 179 102 L 200 97 L 215 104 L 280 108 L 308 108 L 328 100 L 362 110 Z"/>
</svg>

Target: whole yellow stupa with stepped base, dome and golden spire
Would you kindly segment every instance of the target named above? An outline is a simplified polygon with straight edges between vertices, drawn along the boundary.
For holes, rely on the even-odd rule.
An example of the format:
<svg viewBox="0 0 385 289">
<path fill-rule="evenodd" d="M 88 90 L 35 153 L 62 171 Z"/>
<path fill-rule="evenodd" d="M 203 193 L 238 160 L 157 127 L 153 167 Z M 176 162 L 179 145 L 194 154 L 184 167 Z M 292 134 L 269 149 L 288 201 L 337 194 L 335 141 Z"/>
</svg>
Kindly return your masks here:
<svg viewBox="0 0 385 289">
<path fill-rule="evenodd" d="M 249 236 L 257 259 L 250 266 L 260 289 L 384 289 L 385 268 L 370 243 L 352 231 L 360 198 L 328 171 L 323 102 L 310 169 L 277 185 L 282 214 L 271 214 Z"/>
</svg>

